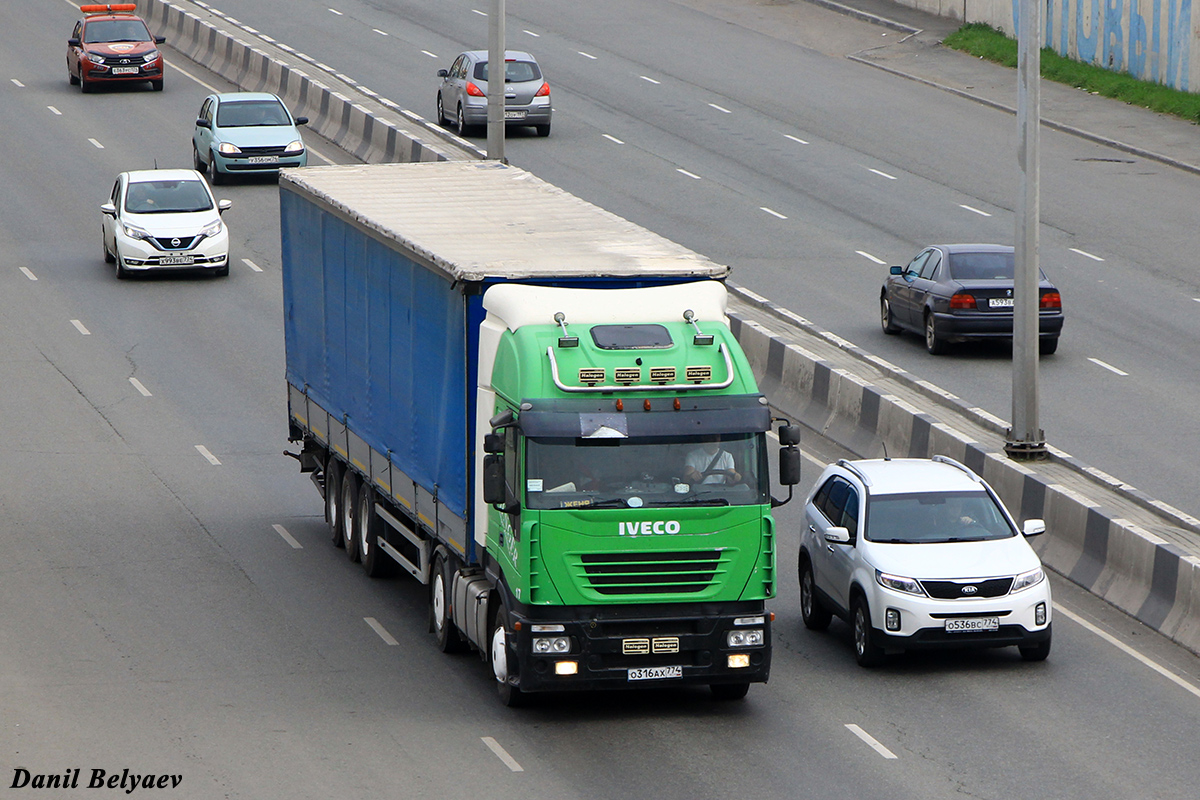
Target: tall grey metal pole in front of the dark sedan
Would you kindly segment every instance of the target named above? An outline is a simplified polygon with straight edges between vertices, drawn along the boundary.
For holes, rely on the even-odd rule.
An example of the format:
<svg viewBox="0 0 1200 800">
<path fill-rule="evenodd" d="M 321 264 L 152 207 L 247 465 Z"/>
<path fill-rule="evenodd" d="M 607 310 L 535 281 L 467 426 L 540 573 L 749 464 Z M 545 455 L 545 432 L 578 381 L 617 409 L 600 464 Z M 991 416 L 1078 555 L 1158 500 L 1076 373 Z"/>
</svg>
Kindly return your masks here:
<svg viewBox="0 0 1200 800">
<path fill-rule="evenodd" d="M 1045 457 L 1045 433 L 1038 425 L 1038 225 L 1039 134 L 1042 122 L 1042 2 L 1021 0 L 1018 35 L 1016 160 L 1021 192 L 1016 205 L 1013 281 L 1013 427 L 1004 450 L 1010 458 Z"/>
</svg>

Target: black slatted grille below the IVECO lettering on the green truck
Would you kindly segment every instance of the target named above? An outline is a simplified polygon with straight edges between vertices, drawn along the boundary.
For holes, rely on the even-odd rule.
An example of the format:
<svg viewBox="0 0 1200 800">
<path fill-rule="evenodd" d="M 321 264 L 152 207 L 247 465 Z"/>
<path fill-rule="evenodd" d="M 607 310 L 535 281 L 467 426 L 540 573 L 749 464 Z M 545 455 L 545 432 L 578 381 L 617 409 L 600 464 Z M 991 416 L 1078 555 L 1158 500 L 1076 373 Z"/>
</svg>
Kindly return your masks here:
<svg viewBox="0 0 1200 800">
<path fill-rule="evenodd" d="M 713 584 L 721 561 L 720 551 L 580 557 L 588 585 L 601 595 L 695 594 Z"/>
</svg>

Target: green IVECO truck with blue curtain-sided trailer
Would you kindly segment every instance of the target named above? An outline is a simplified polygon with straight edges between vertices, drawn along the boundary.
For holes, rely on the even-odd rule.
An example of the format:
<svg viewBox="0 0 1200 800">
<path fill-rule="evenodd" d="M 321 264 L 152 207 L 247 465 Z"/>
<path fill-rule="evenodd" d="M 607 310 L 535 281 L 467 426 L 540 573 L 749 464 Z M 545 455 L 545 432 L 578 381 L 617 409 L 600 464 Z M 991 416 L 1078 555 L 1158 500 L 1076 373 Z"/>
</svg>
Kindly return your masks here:
<svg viewBox="0 0 1200 800">
<path fill-rule="evenodd" d="M 280 185 L 290 438 L 334 542 L 427 584 L 508 704 L 766 681 L 772 417 L 727 267 L 497 163 Z"/>
</svg>

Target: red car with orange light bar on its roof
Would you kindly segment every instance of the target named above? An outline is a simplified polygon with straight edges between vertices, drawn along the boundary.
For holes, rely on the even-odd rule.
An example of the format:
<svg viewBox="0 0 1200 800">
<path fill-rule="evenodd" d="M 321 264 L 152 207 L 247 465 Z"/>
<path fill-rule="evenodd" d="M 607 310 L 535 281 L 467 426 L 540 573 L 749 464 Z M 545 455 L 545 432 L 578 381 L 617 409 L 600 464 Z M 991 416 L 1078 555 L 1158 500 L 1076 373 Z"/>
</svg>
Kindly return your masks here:
<svg viewBox="0 0 1200 800">
<path fill-rule="evenodd" d="M 67 79 L 91 91 L 97 83 L 149 80 L 162 91 L 164 36 L 152 36 L 132 2 L 79 6 L 83 19 L 67 40 Z"/>
</svg>

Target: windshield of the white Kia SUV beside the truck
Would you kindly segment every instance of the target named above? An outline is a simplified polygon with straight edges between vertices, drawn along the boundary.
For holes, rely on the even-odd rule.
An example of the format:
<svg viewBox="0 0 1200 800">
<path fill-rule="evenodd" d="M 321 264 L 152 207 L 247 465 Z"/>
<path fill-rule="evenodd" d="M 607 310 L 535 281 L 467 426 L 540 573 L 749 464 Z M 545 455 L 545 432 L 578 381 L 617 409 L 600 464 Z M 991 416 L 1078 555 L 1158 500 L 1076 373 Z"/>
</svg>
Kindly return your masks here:
<svg viewBox="0 0 1200 800">
<path fill-rule="evenodd" d="M 866 539 L 872 542 L 982 542 L 1015 535 L 986 492 L 878 494 L 868 507 Z"/>
</svg>

